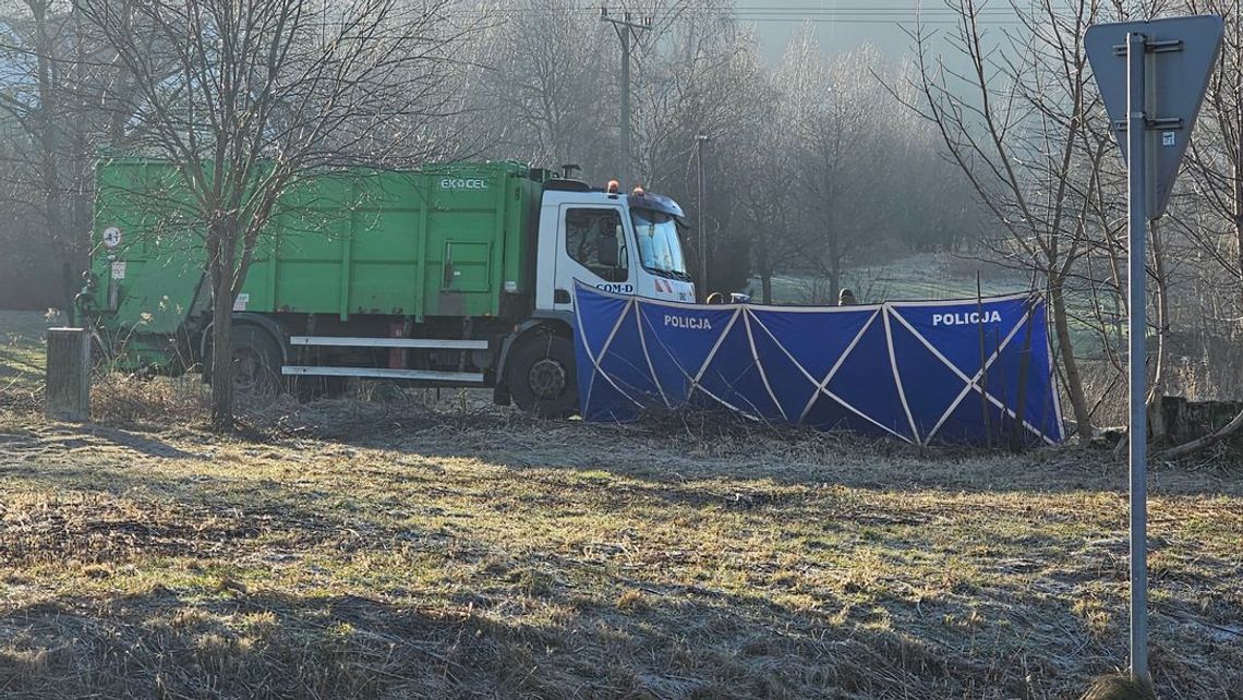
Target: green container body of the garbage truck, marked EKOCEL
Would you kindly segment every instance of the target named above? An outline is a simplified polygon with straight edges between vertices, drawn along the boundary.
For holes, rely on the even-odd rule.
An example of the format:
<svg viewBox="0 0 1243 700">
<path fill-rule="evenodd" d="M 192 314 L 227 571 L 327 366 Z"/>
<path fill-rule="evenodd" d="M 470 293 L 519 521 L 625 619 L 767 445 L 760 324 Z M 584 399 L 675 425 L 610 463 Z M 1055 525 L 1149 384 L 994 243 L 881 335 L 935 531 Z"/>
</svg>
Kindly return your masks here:
<svg viewBox="0 0 1243 700">
<path fill-rule="evenodd" d="M 313 178 L 282 196 L 234 308 L 341 321 L 520 313 L 507 306 L 531 298 L 536 210 L 547 177 L 517 163 L 466 163 Z M 173 206 L 152 211 L 153 193 L 184 200 L 168 184 L 177 178 L 168 163 L 143 159 L 97 169 L 96 220 L 101 230 L 118 229 L 119 242 L 93 259 L 92 301 L 116 308 L 101 320 L 132 336 L 127 346 L 135 352 L 119 357 L 132 368 L 175 362 L 153 353 L 208 293 L 200 290 L 201 229 L 179 225 Z M 96 240 L 103 246 L 102 236 Z"/>
</svg>

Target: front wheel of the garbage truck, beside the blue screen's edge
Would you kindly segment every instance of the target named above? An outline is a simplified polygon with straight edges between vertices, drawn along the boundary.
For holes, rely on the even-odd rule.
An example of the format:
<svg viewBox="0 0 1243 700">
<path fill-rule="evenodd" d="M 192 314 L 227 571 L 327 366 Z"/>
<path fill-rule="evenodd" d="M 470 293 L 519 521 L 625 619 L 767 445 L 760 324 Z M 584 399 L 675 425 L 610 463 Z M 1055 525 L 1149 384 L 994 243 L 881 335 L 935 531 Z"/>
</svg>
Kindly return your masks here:
<svg viewBox="0 0 1243 700">
<path fill-rule="evenodd" d="M 574 343 L 551 333 L 527 337 L 510 358 L 506 383 L 518 408 L 543 418 L 578 412 Z"/>
</svg>

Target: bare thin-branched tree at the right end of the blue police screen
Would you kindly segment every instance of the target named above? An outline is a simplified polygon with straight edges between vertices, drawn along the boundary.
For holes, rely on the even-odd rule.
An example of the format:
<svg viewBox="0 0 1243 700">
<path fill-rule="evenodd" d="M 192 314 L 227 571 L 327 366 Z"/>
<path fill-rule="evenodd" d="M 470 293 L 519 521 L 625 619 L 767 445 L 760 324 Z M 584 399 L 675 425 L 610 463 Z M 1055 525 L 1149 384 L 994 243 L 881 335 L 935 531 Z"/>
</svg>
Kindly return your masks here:
<svg viewBox="0 0 1243 700">
<path fill-rule="evenodd" d="M 1001 251 L 1044 281 L 1058 359 L 1084 440 L 1093 434 L 1070 332 L 1066 282 L 1090 245 L 1089 215 L 1100 154 L 1084 152 L 1086 119 L 1100 109 L 1080 37 L 1099 19 L 1094 2 L 1069 7 L 1040 0 L 1014 5 L 1019 32 L 984 37 L 981 4 L 953 0 L 953 46 L 967 60 L 957 75 L 931 55 L 922 27 L 911 32 L 920 101 L 910 103 L 936 124 L 945 147 L 1008 236 Z"/>
</svg>

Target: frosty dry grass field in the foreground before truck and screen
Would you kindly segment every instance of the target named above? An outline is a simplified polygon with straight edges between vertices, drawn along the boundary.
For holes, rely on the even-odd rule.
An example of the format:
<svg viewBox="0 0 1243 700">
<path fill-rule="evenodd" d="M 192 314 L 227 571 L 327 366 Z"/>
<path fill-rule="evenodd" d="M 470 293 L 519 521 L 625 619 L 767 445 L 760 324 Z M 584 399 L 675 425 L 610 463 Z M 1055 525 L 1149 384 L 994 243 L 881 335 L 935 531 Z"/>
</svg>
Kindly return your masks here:
<svg viewBox="0 0 1243 700">
<path fill-rule="evenodd" d="M 87 425 L 35 384 L 0 379 L 0 698 L 1073 700 L 1126 663 L 1109 450 L 424 392 L 221 438 L 193 380 L 108 378 Z M 1243 698 L 1243 466 L 1152 490 L 1161 696 Z"/>
</svg>

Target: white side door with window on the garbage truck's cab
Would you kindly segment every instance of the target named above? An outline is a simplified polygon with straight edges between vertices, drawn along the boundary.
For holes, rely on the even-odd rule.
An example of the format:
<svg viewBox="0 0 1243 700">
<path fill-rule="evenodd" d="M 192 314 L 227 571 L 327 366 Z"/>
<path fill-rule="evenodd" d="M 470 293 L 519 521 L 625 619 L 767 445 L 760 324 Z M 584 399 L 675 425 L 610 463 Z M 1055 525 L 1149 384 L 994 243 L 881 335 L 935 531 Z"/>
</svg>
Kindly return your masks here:
<svg viewBox="0 0 1243 700">
<path fill-rule="evenodd" d="M 574 280 L 605 291 L 634 293 L 624 221 L 619 206 L 561 206 L 554 308 L 573 308 Z"/>
</svg>

